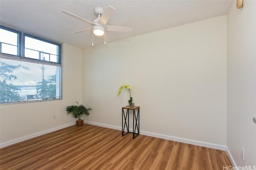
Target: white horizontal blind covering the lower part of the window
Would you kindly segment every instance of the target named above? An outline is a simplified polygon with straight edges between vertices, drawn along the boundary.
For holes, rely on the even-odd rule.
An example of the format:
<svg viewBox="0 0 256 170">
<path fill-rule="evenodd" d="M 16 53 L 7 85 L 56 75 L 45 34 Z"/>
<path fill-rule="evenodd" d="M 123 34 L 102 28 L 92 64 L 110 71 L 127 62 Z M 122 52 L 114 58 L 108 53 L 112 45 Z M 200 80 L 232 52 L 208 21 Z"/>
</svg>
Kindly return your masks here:
<svg viewBox="0 0 256 170">
<path fill-rule="evenodd" d="M 60 99 L 61 67 L 0 59 L 0 103 Z"/>
</svg>

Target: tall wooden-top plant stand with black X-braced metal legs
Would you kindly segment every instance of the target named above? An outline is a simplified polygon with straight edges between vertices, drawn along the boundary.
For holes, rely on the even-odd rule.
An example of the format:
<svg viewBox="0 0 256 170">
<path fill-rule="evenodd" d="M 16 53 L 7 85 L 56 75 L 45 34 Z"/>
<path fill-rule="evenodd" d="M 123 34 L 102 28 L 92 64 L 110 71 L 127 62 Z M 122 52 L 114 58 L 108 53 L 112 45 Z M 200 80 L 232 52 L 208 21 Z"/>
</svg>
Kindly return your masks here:
<svg viewBox="0 0 256 170">
<path fill-rule="evenodd" d="M 126 109 L 126 113 L 124 113 L 124 109 Z M 138 109 L 136 114 L 136 109 Z M 129 131 L 129 110 L 133 110 L 133 126 L 132 126 L 132 132 Z M 124 133 L 124 129 L 127 129 L 127 132 Z M 137 129 L 137 133 L 136 133 Z M 122 107 L 122 137 L 126 135 L 127 133 L 132 133 L 134 139 L 140 134 L 140 106 L 124 106 Z M 136 135 L 136 136 L 135 136 Z"/>
</svg>

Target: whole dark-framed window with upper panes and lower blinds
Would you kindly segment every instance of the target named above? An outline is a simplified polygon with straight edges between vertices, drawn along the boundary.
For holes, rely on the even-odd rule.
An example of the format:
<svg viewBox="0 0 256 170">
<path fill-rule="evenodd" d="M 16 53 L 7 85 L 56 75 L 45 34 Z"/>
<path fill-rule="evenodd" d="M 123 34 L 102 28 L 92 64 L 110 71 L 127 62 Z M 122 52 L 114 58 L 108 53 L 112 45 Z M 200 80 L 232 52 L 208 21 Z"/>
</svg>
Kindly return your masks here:
<svg viewBox="0 0 256 170">
<path fill-rule="evenodd" d="M 60 99 L 60 51 L 58 43 L 0 25 L 0 103 Z"/>
</svg>

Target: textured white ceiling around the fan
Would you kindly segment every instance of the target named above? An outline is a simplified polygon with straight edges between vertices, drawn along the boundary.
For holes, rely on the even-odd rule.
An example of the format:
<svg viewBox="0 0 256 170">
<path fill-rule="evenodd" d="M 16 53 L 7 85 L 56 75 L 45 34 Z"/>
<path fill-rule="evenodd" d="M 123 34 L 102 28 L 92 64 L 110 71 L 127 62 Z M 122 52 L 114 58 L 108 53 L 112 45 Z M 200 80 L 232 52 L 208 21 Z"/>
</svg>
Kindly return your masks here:
<svg viewBox="0 0 256 170">
<path fill-rule="evenodd" d="M 232 0 L 0 0 L 0 24 L 84 49 L 92 45 L 92 32 L 72 32 L 91 25 L 61 10 L 93 21 L 95 7 L 114 7 L 116 11 L 107 24 L 133 31 L 107 31 L 109 42 L 224 15 L 231 3 Z M 94 37 L 94 45 L 103 43 L 102 37 Z"/>
</svg>

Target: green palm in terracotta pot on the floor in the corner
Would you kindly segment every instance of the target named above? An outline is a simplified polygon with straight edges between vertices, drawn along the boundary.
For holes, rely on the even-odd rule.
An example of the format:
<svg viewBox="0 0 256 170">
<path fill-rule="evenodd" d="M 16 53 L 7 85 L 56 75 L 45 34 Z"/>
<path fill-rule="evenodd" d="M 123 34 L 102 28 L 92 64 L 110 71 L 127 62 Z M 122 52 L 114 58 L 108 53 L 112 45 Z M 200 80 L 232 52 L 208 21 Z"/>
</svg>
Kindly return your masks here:
<svg viewBox="0 0 256 170">
<path fill-rule="evenodd" d="M 78 104 L 78 102 L 76 102 Z M 77 126 L 82 126 L 84 123 L 84 120 L 81 119 L 82 115 L 90 115 L 89 111 L 92 110 L 91 108 L 86 108 L 84 107 L 84 105 L 82 104 L 78 104 L 76 105 L 72 105 L 72 106 L 67 106 L 66 107 L 66 111 L 68 113 L 72 113 L 72 115 L 74 115 L 75 118 L 77 118 L 78 120 L 76 121 L 76 125 Z"/>
</svg>

